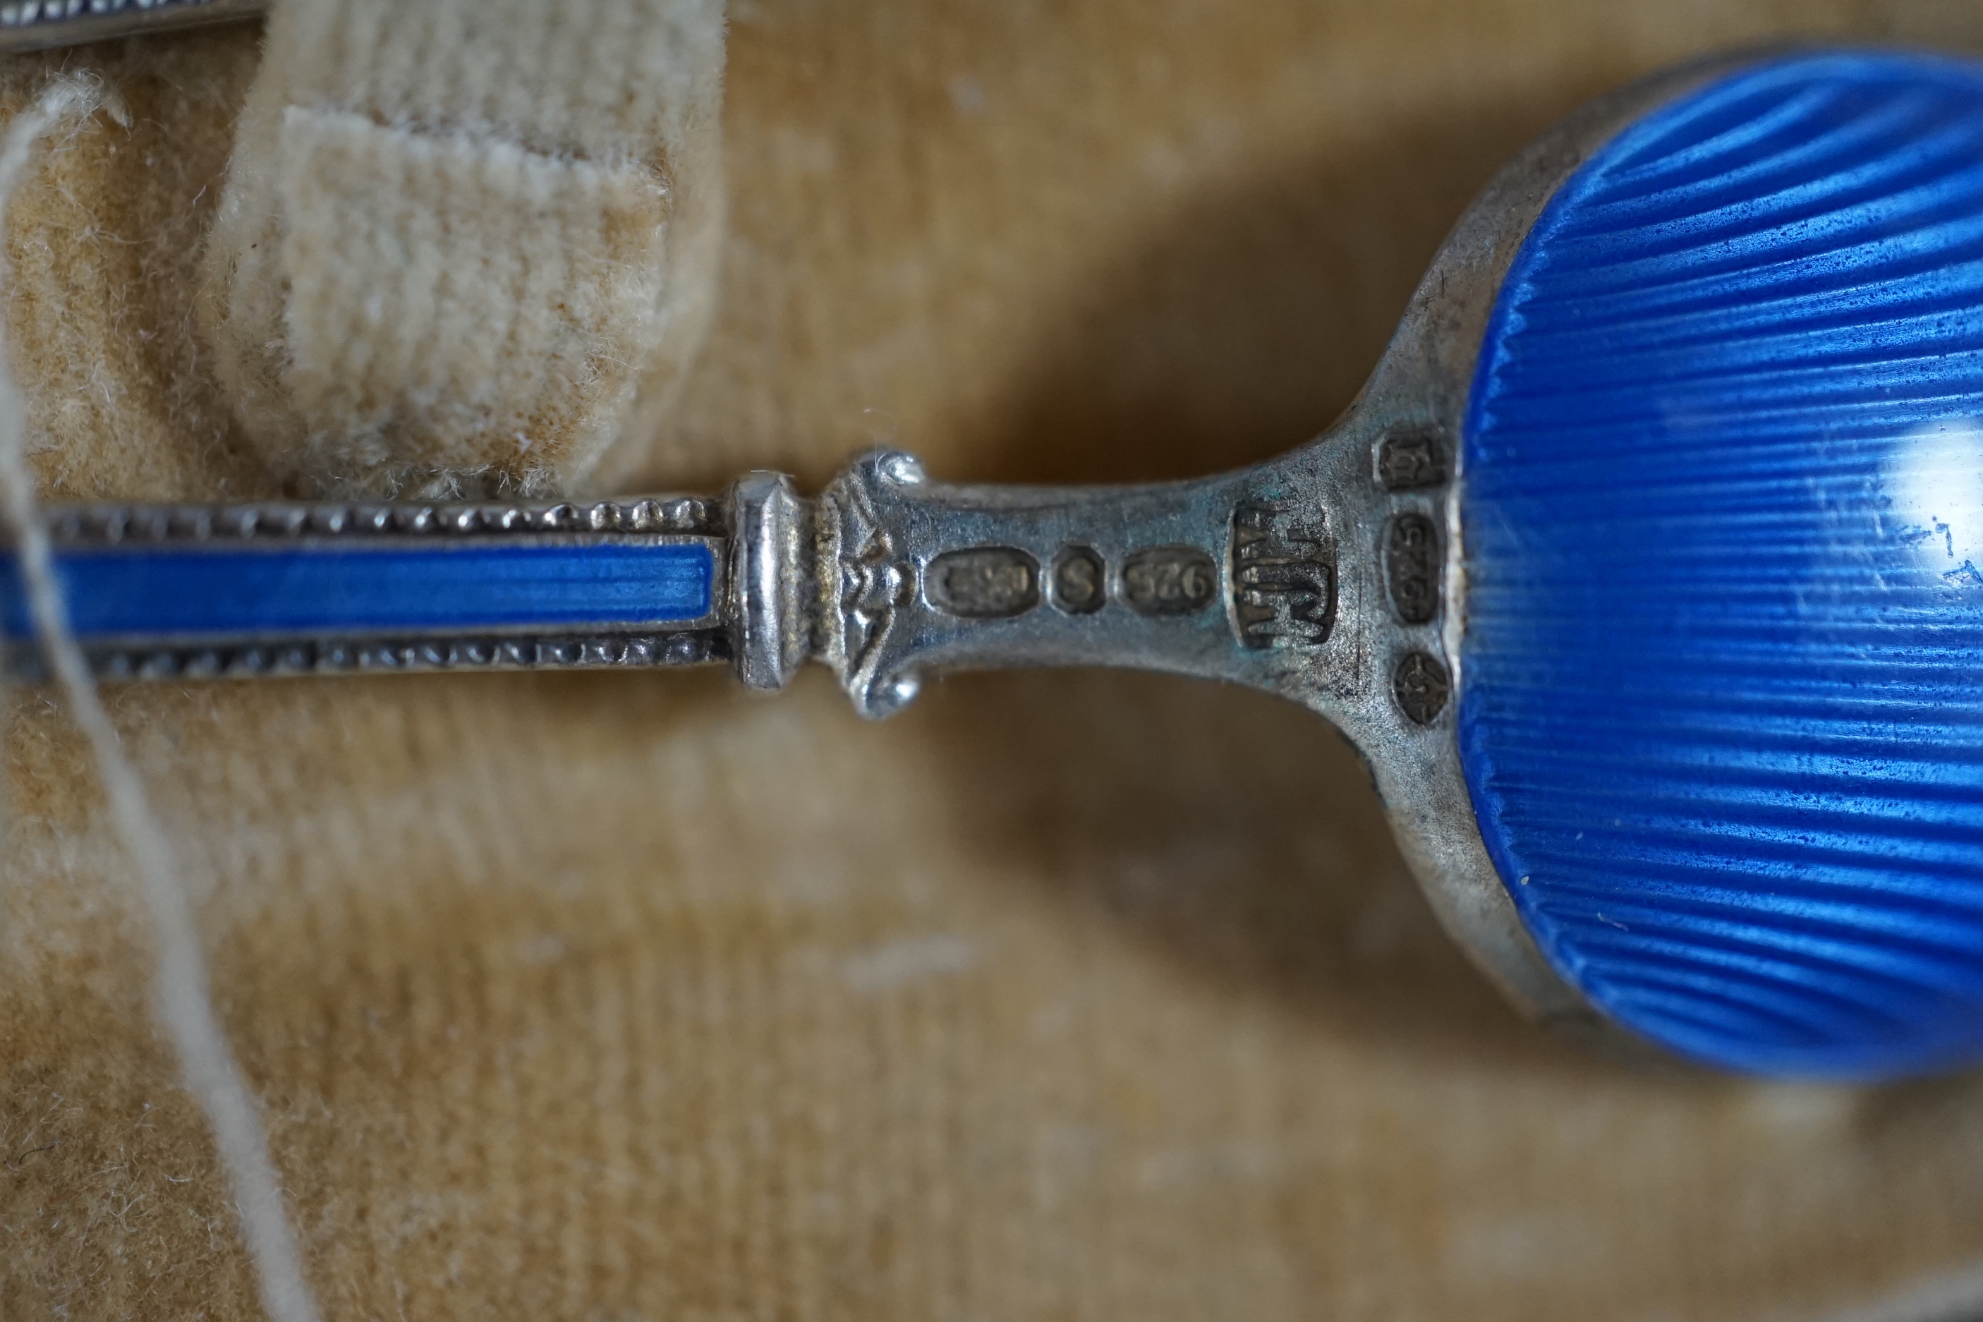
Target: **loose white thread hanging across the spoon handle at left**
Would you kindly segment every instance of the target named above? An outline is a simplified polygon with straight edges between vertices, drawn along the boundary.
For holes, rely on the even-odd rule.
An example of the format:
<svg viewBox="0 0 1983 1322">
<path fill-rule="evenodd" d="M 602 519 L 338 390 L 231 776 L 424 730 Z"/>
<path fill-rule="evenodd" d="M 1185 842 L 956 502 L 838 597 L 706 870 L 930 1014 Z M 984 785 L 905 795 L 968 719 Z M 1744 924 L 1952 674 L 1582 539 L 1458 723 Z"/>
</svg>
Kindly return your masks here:
<svg viewBox="0 0 1983 1322">
<path fill-rule="evenodd" d="M 61 79 L 14 119 L 0 139 L 0 218 L 6 216 L 6 204 L 36 139 L 67 115 L 91 113 L 101 99 L 103 93 L 93 83 Z M 6 275 L 6 258 L 0 254 L 0 287 Z M 139 874 L 139 890 L 159 945 L 153 1009 L 178 1052 L 186 1090 L 198 1100 L 214 1132 L 220 1165 L 234 1193 L 234 1209 L 262 1286 L 264 1308 L 276 1322 L 317 1322 L 317 1302 L 303 1282 L 301 1255 L 282 1203 L 276 1167 L 268 1159 L 262 1118 L 208 995 L 206 955 L 200 949 L 192 902 L 178 878 L 173 844 L 145 799 L 145 783 L 125 757 L 83 650 L 69 630 L 69 610 L 56 585 L 48 527 L 36 507 L 34 478 L 28 470 L 26 404 L 0 335 L 0 486 L 6 488 L 6 513 L 14 525 L 20 577 L 50 668 L 61 682 L 75 723 L 95 755 L 97 775 L 109 797 L 111 825 Z"/>
</svg>

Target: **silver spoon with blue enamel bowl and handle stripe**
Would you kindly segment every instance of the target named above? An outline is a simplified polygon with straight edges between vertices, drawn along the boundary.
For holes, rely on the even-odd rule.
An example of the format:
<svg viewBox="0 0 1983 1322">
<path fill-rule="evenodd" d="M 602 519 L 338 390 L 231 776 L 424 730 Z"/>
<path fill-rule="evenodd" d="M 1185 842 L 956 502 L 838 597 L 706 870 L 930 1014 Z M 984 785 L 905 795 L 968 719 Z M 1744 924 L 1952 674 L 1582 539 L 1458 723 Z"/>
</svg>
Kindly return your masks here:
<svg viewBox="0 0 1983 1322">
<path fill-rule="evenodd" d="M 105 678 L 819 660 L 871 717 L 958 668 L 1249 684 L 1362 749 L 1533 1015 L 1773 1074 L 1983 1058 L 1973 61 L 1739 57 L 1586 107 L 1461 218 L 1348 414 L 1243 472 L 876 452 L 817 497 L 48 523 Z M 14 559 L 0 628 L 38 674 Z"/>
</svg>

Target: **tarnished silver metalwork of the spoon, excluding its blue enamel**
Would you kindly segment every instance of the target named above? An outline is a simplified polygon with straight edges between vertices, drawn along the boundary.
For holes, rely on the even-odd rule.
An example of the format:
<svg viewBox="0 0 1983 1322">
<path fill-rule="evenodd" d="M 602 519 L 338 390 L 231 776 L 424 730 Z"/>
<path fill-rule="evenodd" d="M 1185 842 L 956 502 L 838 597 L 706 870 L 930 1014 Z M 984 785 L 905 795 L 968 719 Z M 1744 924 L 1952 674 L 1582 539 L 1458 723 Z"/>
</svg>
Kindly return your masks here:
<svg viewBox="0 0 1983 1322">
<path fill-rule="evenodd" d="M 1630 1047 L 1543 959 L 1473 819 L 1454 716 L 1465 686 L 1459 434 L 1501 279 L 1547 200 L 1622 125 L 1737 63 L 1620 91 L 1525 151 L 1459 220 L 1344 418 L 1257 468 L 1132 488 L 946 486 L 884 450 L 811 501 L 777 474 L 750 474 L 720 501 L 63 509 L 58 543 L 666 531 L 708 539 L 720 565 L 716 614 L 654 638 L 339 640 L 293 658 L 180 640 L 93 660 L 107 674 L 220 676 L 728 656 L 746 684 L 775 690 L 815 658 L 869 717 L 958 668 L 1132 666 L 1249 684 L 1319 712 L 1362 751 L 1442 922 L 1513 1001 Z"/>
</svg>

